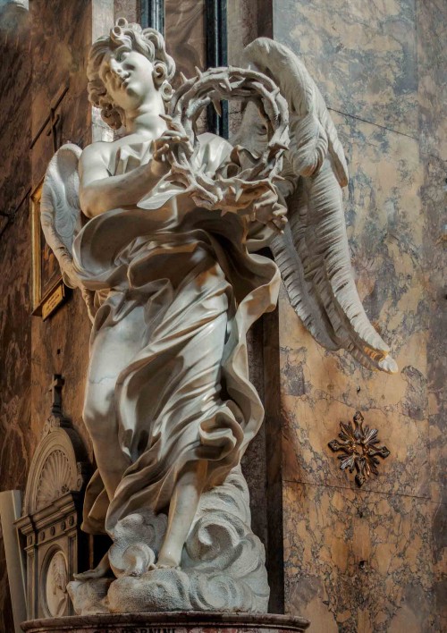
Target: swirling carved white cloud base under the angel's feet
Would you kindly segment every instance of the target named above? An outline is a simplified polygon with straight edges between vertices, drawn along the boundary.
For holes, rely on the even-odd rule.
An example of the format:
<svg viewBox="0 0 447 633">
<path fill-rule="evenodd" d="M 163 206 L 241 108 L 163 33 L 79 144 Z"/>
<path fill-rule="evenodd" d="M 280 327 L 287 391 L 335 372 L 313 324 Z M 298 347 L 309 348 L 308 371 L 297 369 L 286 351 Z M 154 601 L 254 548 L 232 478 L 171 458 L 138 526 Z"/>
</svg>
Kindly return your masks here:
<svg viewBox="0 0 447 633">
<path fill-rule="evenodd" d="M 108 558 L 115 578 L 68 585 L 79 615 L 130 612 L 246 612 L 268 608 L 264 545 L 250 528 L 240 468 L 202 494 L 180 569 L 156 568 L 167 518 L 141 509 L 118 521 Z"/>
</svg>

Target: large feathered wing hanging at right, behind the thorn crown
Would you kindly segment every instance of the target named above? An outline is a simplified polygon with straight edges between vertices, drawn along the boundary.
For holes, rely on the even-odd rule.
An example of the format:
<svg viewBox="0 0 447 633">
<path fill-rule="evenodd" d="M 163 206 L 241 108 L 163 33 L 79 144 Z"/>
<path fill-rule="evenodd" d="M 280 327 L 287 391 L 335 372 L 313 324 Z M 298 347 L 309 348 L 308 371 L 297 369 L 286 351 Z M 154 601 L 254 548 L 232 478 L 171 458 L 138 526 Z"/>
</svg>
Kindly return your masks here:
<svg viewBox="0 0 447 633">
<path fill-rule="evenodd" d="M 258 38 L 247 61 L 278 84 L 289 104 L 291 145 L 280 183 L 289 224 L 270 246 L 291 305 L 328 350 L 349 350 L 368 368 L 394 373 L 389 348 L 370 324 L 358 297 L 342 204 L 348 169 L 325 101 L 289 48 Z M 253 140 L 251 140 L 253 143 Z"/>
</svg>

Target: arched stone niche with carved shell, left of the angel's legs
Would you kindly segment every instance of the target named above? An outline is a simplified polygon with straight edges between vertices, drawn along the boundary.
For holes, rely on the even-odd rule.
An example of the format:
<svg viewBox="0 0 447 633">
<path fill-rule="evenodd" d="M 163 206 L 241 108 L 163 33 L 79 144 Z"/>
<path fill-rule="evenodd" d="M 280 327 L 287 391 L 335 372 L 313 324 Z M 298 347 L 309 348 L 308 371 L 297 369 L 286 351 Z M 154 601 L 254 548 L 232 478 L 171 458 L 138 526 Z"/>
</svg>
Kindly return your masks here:
<svg viewBox="0 0 447 633">
<path fill-rule="evenodd" d="M 87 564 L 80 522 L 88 472 L 80 436 L 54 403 L 31 461 L 23 515 L 15 522 L 26 553 L 29 618 L 72 614 L 66 585 Z"/>
</svg>

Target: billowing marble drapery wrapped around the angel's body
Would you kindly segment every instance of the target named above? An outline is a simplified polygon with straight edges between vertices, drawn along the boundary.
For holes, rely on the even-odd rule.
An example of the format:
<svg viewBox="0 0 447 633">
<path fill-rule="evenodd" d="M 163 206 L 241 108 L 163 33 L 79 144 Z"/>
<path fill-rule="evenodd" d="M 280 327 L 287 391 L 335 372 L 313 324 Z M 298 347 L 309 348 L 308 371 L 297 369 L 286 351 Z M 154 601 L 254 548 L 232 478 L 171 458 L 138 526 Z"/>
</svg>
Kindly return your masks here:
<svg viewBox="0 0 447 633">
<path fill-rule="evenodd" d="M 229 149 L 205 135 L 201 160 L 212 171 Z M 145 143 L 122 151 L 114 173 L 149 157 Z M 148 195 L 147 208 L 91 219 L 73 247 L 98 305 L 84 418 L 96 451 L 107 442 L 122 463 L 114 494 L 101 467 L 89 483 L 83 529 L 91 533 L 112 532 L 140 508 L 166 509 L 190 461 L 207 460 L 207 489 L 222 484 L 264 417 L 246 335 L 276 304 L 277 267 L 248 253 L 240 217 L 194 207 L 172 189 L 164 182 L 153 192 L 159 207 Z M 124 352 L 114 356 L 114 345 Z"/>
</svg>

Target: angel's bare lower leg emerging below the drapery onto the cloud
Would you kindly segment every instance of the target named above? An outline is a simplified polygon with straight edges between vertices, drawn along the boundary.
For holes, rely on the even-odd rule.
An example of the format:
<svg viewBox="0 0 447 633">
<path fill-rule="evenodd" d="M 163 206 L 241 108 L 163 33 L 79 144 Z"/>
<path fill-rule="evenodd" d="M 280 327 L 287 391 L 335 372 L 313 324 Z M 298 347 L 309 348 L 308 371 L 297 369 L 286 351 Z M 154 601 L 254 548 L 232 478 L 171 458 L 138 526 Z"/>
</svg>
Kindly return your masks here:
<svg viewBox="0 0 447 633">
<path fill-rule="evenodd" d="M 157 567 L 179 567 L 181 550 L 190 531 L 207 479 L 207 461 L 188 463 L 183 468 L 169 504 L 168 526 L 158 554 Z"/>
</svg>

